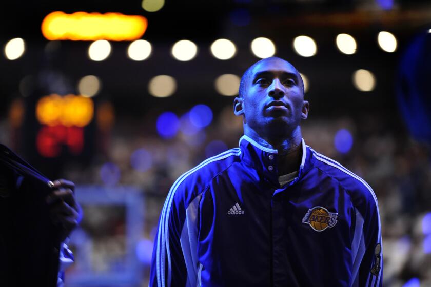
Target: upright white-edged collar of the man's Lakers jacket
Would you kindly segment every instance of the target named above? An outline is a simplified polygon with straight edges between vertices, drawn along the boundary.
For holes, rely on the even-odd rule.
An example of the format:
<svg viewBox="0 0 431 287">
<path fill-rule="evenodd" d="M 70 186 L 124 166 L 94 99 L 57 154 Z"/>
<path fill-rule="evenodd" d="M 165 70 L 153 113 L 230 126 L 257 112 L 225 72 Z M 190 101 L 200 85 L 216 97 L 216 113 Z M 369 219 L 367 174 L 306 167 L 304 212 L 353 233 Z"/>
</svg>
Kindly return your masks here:
<svg viewBox="0 0 431 287">
<path fill-rule="evenodd" d="M 302 158 L 301 164 L 298 167 L 298 177 L 291 181 L 290 185 L 296 183 L 311 168 L 311 151 L 305 145 L 303 138 L 301 145 Z M 247 135 L 243 135 L 240 138 L 239 146 L 241 149 L 241 160 L 246 163 L 246 165 L 263 173 L 265 177 L 276 185 L 279 184 L 277 165 L 278 151 L 276 149 L 264 147 Z"/>
</svg>

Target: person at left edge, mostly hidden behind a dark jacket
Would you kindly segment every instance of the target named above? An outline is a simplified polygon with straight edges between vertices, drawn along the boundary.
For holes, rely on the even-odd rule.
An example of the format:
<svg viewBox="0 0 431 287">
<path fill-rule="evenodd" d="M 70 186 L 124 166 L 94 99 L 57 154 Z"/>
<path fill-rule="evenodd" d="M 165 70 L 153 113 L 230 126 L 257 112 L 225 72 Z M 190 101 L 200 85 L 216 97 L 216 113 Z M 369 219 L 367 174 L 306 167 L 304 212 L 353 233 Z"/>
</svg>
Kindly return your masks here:
<svg viewBox="0 0 431 287">
<path fill-rule="evenodd" d="M 50 181 L 0 144 L 0 285 L 62 286 L 82 217 L 74 184 Z"/>
</svg>

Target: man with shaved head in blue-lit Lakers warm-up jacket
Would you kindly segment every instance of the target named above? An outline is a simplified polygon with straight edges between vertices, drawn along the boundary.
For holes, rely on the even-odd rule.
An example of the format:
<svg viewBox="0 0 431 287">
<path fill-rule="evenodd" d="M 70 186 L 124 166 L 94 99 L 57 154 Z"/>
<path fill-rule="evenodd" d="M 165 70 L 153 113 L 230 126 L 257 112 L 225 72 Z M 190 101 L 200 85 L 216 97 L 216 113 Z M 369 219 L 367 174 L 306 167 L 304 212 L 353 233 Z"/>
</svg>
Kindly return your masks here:
<svg viewBox="0 0 431 287">
<path fill-rule="evenodd" d="M 243 75 L 240 147 L 173 184 L 155 238 L 150 286 L 381 286 L 376 196 L 305 145 L 304 84 L 287 61 Z"/>
</svg>

